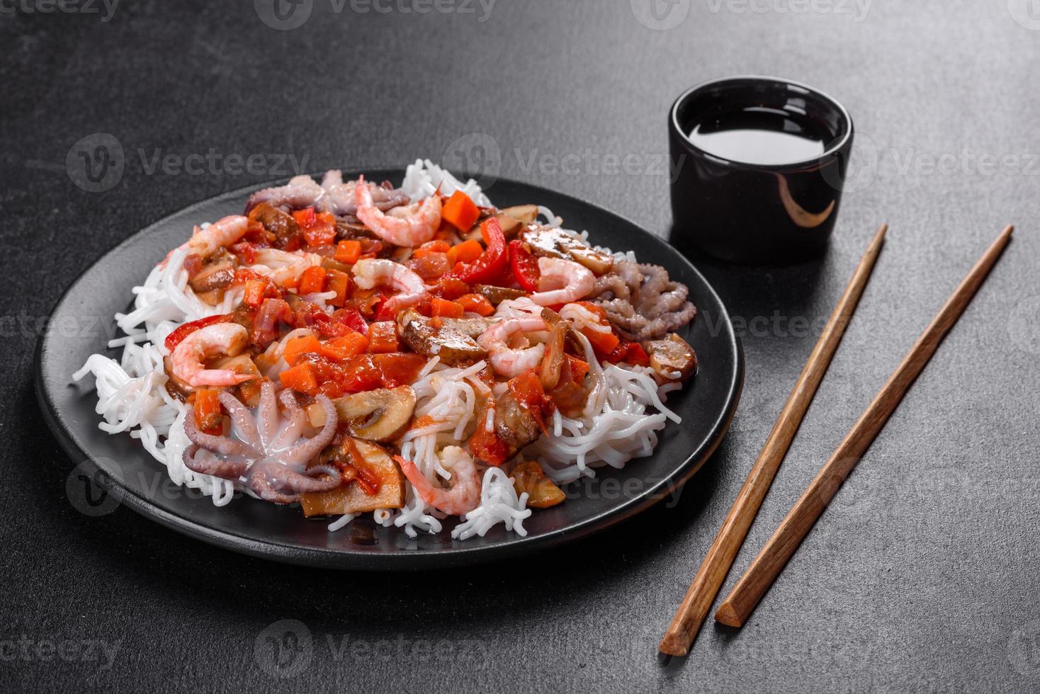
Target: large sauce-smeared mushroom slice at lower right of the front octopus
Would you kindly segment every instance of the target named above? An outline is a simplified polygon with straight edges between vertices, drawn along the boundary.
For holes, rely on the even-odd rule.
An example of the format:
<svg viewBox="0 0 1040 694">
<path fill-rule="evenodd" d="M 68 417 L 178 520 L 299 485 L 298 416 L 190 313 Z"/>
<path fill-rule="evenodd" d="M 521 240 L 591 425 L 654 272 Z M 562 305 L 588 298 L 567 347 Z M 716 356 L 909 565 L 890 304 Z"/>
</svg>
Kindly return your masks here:
<svg viewBox="0 0 1040 694">
<path fill-rule="evenodd" d="M 346 515 L 405 505 L 405 476 L 382 447 L 360 438 L 347 438 L 335 447 L 329 459 L 342 461 L 344 485 L 331 491 L 303 493 L 304 515 Z M 353 450 L 352 450 L 353 449 Z M 322 455 L 322 459 L 327 456 Z M 372 491 L 371 481 L 376 487 Z"/>
</svg>

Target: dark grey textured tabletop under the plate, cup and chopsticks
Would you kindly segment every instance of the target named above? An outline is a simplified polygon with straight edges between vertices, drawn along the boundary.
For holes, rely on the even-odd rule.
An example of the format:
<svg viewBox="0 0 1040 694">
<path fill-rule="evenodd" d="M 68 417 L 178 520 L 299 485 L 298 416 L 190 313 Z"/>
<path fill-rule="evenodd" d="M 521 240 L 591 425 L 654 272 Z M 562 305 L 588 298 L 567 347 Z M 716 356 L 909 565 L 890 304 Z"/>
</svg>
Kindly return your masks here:
<svg viewBox="0 0 1040 694">
<path fill-rule="evenodd" d="M 264 0 L 0 6 L 0 687 L 1040 688 L 1036 2 L 302 2 L 291 30 L 262 21 L 279 24 Z M 824 260 L 699 262 L 736 317 L 747 382 L 678 504 L 524 562 L 364 576 L 69 503 L 73 461 L 35 404 L 32 350 L 64 287 L 121 239 L 292 174 L 282 155 L 320 169 L 458 166 L 458 152 L 666 235 L 667 110 L 742 73 L 841 100 L 858 170 Z M 123 168 L 92 182 L 77 142 L 96 133 Z M 232 155 L 257 155 L 254 170 Z M 874 281 L 727 587 L 989 241 L 1020 232 L 749 623 L 708 625 L 662 666 L 657 640 L 883 220 Z"/>
</svg>

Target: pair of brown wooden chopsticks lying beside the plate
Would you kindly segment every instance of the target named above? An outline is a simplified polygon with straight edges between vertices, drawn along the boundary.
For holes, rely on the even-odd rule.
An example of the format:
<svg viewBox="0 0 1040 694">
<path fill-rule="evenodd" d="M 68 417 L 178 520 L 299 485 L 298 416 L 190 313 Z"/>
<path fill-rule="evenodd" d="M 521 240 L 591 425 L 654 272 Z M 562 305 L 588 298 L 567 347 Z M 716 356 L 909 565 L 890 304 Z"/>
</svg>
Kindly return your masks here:
<svg viewBox="0 0 1040 694">
<path fill-rule="evenodd" d="M 694 582 L 679 606 L 672 623 L 661 640 L 658 650 L 666 656 L 685 656 L 700 631 L 711 604 L 719 594 L 733 559 L 751 528 L 765 492 L 780 463 L 790 448 L 795 434 L 812 402 L 812 398 L 830 366 L 844 335 L 846 326 L 870 277 L 870 272 L 881 252 L 888 228 L 882 224 L 867 246 L 848 288 L 838 301 L 827 326 L 824 328 L 808 363 L 802 370 L 795 389 L 787 398 L 777 423 L 770 432 L 761 454 L 755 461 L 737 495 L 733 507 L 723 523 L 707 557 L 694 577 Z M 899 406 L 917 376 L 931 359 L 939 343 L 964 313 L 976 292 L 996 264 L 1004 248 L 1011 241 L 1013 226 L 1005 229 L 961 282 L 925 332 L 917 339 L 910 353 L 875 396 L 852 430 L 838 445 L 830 459 L 820 470 L 801 499 L 773 533 L 761 552 L 745 571 L 716 612 L 716 620 L 729 626 L 740 626 L 765 595 L 787 561 L 794 556 L 802 540 L 823 514 L 824 509 L 837 493 L 841 483 L 874 443 L 885 423 Z"/>
</svg>

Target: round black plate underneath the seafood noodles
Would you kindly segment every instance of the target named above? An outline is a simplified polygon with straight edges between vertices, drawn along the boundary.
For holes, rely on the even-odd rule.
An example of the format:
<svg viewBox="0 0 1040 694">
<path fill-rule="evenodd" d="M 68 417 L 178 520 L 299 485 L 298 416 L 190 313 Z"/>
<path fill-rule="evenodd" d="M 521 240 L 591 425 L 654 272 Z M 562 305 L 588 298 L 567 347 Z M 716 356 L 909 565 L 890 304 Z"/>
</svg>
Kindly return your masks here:
<svg viewBox="0 0 1040 694">
<path fill-rule="evenodd" d="M 364 171 L 372 180 L 399 182 L 401 169 Z M 259 187 L 259 186 L 258 186 Z M 178 532 L 236 552 L 278 561 L 346 569 L 416 569 L 457 566 L 518 555 L 578 539 L 603 530 L 666 498 L 711 455 L 729 427 L 744 381 L 743 354 L 719 296 L 672 246 L 602 208 L 512 181 L 489 190 L 499 207 L 539 203 L 552 208 L 567 225 L 591 230 L 591 239 L 614 249 L 633 249 L 640 261 L 668 268 L 690 287 L 700 314 L 684 337 L 700 357 L 700 373 L 668 405 L 682 417 L 669 423 L 652 457 L 631 461 L 623 471 L 603 472 L 597 482 L 568 488 L 568 500 L 527 518 L 527 536 L 501 526 L 485 537 L 456 541 L 448 529 L 408 538 L 398 529 L 376 526 L 363 516 L 338 532 L 327 520 L 305 519 L 298 508 L 278 507 L 243 497 L 216 508 L 198 492 L 174 486 L 165 469 L 129 435 L 98 429 L 100 418 L 93 379 L 72 382 L 71 374 L 94 352 L 106 352 L 112 315 L 125 311 L 130 288 L 150 268 L 183 243 L 191 226 L 240 214 L 258 187 L 200 203 L 130 237 L 86 270 L 54 310 L 50 330 L 36 355 L 36 391 L 51 429 L 89 478 L 100 479 L 121 503 Z M 96 325 L 98 329 L 69 330 Z M 109 353 L 116 359 L 119 350 Z M 110 500 L 109 503 L 111 503 Z"/>
</svg>

